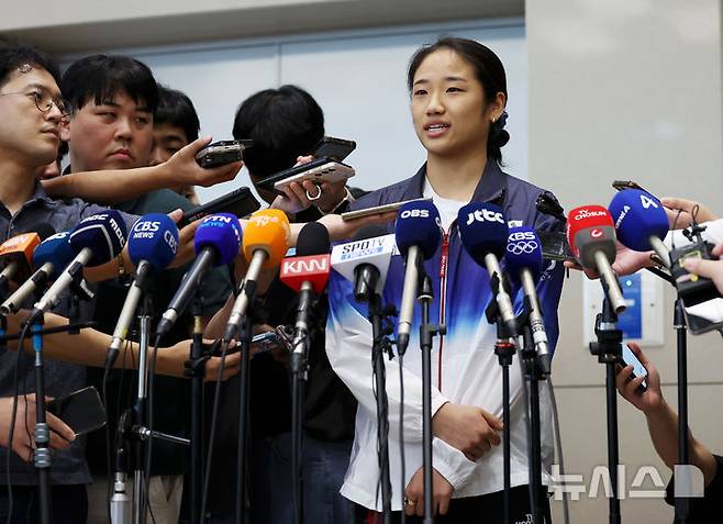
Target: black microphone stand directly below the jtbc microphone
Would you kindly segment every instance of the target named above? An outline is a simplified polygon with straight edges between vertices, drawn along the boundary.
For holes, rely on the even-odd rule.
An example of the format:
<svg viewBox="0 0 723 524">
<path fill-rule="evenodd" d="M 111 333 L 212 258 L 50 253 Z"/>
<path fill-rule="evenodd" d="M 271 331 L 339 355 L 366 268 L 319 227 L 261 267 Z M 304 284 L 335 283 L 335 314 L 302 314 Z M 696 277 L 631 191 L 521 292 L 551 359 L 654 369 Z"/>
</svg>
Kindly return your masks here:
<svg viewBox="0 0 723 524">
<path fill-rule="evenodd" d="M 510 466 L 510 365 L 514 356 L 515 347 L 513 342 L 514 333 L 510 333 L 509 327 L 500 314 L 497 306 L 497 293 L 503 286 L 499 276 L 494 274 L 490 278 L 490 289 L 492 290 L 492 300 L 485 311 L 487 322 L 497 324 L 497 342 L 494 343 L 494 355 L 497 355 L 500 366 L 502 366 L 502 422 L 504 428 L 502 431 L 502 445 L 503 445 L 503 464 L 504 464 L 504 491 L 503 491 L 503 505 L 504 519 L 503 523 L 510 523 L 510 489 L 512 488 L 512 476 Z"/>
</svg>

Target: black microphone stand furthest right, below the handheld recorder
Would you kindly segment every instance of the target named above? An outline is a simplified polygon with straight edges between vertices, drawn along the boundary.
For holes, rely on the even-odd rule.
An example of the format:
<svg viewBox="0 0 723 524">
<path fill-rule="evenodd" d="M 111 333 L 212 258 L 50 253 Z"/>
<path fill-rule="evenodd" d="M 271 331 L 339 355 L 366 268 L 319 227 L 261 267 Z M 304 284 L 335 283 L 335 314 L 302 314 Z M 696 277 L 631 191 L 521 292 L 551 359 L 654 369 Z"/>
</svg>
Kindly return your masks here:
<svg viewBox="0 0 723 524">
<path fill-rule="evenodd" d="M 674 328 L 676 330 L 678 349 L 678 464 L 688 464 L 688 326 L 686 324 L 685 304 L 678 297 L 675 304 Z M 688 472 L 685 473 L 690 482 Z M 689 494 L 689 493 L 687 493 Z M 689 500 L 686 497 L 675 498 L 676 524 L 688 521 Z"/>
</svg>

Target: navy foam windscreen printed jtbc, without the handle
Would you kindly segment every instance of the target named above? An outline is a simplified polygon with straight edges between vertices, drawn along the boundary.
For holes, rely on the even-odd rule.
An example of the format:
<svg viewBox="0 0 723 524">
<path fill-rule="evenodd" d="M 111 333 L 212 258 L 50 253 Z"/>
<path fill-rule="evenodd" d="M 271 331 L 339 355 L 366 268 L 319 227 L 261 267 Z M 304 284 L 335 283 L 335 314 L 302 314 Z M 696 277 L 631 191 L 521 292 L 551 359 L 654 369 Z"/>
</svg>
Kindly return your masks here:
<svg viewBox="0 0 723 524">
<path fill-rule="evenodd" d="M 459 209 L 457 225 L 465 250 L 480 266 L 487 254 L 502 258 L 507 253 L 510 228 L 501 208 L 470 202 Z"/>
</svg>

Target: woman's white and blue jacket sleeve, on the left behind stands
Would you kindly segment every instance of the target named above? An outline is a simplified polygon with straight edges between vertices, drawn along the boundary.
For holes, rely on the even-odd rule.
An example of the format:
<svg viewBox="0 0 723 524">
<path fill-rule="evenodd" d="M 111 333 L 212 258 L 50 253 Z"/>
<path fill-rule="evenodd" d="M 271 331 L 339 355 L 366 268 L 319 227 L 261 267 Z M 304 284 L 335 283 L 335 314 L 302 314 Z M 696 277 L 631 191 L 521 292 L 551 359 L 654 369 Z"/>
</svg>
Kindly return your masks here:
<svg viewBox="0 0 723 524">
<path fill-rule="evenodd" d="M 371 367 L 371 323 L 344 292 L 345 282 L 334 277 L 330 281 L 330 310 L 326 322 L 326 355 L 332 368 L 359 402 L 359 409 L 377 412 Z M 336 289 L 335 289 L 336 288 Z M 353 299 L 352 299 L 353 300 Z M 389 432 L 399 432 L 400 387 L 399 363 L 385 358 Z M 422 379 L 404 369 L 404 441 L 422 441 Z M 448 402 L 437 388 L 432 388 L 432 415 Z"/>
</svg>

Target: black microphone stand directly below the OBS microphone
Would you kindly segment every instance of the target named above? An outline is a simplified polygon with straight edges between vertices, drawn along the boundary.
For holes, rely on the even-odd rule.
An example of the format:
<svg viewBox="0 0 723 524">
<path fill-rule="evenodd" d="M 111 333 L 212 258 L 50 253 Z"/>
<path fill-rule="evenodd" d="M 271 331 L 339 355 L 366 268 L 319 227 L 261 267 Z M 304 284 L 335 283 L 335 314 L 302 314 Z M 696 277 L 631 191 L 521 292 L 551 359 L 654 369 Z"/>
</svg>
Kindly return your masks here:
<svg viewBox="0 0 723 524">
<path fill-rule="evenodd" d="M 434 300 L 432 279 L 420 264 L 419 276 L 421 280 L 419 301 L 422 305 L 422 323 L 420 324 L 420 347 L 422 349 L 422 441 L 423 441 L 423 477 L 424 477 L 424 523 L 434 522 L 433 510 L 433 454 L 432 454 L 432 344 L 434 335 L 444 335 L 444 325 L 430 323 L 430 308 Z M 404 509 L 402 508 L 402 511 Z"/>
</svg>

